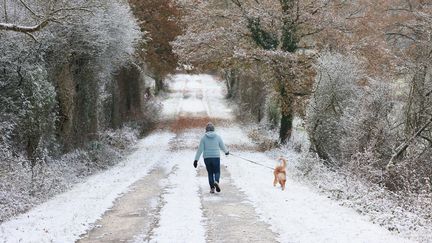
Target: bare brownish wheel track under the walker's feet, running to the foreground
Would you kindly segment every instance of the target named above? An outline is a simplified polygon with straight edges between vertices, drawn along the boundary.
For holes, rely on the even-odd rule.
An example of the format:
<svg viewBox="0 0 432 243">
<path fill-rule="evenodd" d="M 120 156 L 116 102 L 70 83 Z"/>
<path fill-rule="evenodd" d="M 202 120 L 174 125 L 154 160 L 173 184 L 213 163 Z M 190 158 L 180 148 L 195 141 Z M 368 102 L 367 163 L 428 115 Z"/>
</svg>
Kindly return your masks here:
<svg viewBox="0 0 432 243">
<path fill-rule="evenodd" d="M 277 242 L 270 225 L 260 221 L 244 193 L 233 185 L 225 166 L 221 173 L 221 193 L 210 194 L 207 172 L 204 167 L 199 170 L 207 242 Z"/>
</svg>

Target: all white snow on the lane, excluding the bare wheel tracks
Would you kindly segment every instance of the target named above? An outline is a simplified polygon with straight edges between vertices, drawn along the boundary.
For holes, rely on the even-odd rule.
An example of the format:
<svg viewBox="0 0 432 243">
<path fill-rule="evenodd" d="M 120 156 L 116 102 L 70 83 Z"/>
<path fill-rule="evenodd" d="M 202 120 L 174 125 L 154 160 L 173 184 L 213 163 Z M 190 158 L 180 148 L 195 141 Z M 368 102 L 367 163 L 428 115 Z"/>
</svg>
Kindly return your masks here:
<svg viewBox="0 0 432 243">
<path fill-rule="evenodd" d="M 173 92 L 164 101 L 165 119 L 182 114 L 233 118 L 223 99 L 222 83 L 209 75 L 174 76 L 171 88 Z M 228 146 L 251 145 L 235 123 L 216 129 Z M 192 129 L 184 134 L 184 141 L 179 139 L 177 142 L 196 147 L 202 134 L 202 130 Z M 191 147 L 180 152 L 168 151 L 170 142 L 176 137 L 172 133 L 158 132 L 141 140 L 137 151 L 124 163 L 94 175 L 71 191 L 0 225 L 0 242 L 74 242 L 117 197 L 126 193 L 131 184 L 145 177 L 155 165 L 174 169 L 166 180 L 167 191 L 162 195 L 163 203 L 151 241 L 205 242 L 209 229 L 203 223 L 201 203 L 206 201 L 201 201 L 199 190 L 206 182 L 197 177 L 192 167 L 194 151 Z M 275 164 L 274 158 L 262 153 L 234 149 L 231 152 L 270 167 Z M 286 156 L 289 160 L 296 158 L 290 154 Z M 222 163 L 231 175 L 230 178 L 222 175 L 222 190 L 224 183 L 234 183 L 229 185 L 230 188 L 244 191 L 259 218 L 271 226 L 281 242 L 408 242 L 293 180 L 288 180 L 286 191 L 273 188 L 273 173 L 268 168 L 234 156 L 223 158 Z M 241 217 L 241 211 L 233 215 Z"/>
</svg>

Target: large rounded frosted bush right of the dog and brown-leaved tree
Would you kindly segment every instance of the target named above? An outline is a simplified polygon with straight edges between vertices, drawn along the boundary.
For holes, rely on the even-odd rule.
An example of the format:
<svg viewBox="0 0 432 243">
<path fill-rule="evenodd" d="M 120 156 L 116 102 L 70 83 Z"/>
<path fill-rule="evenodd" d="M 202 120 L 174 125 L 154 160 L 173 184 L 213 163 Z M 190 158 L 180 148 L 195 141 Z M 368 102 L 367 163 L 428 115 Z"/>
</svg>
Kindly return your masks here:
<svg viewBox="0 0 432 243">
<path fill-rule="evenodd" d="M 366 150 L 383 161 L 390 158 L 395 115 L 391 86 L 366 79 L 361 64 L 341 54 L 324 53 L 317 68 L 306 119 L 318 155 L 336 164 Z"/>
</svg>

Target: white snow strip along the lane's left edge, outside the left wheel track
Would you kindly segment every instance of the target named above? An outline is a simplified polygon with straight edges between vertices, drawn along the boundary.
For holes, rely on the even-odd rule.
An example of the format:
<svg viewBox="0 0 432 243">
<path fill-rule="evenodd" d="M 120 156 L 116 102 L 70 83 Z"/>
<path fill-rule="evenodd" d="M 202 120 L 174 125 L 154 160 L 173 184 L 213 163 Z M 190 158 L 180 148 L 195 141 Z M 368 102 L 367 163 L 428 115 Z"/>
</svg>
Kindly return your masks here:
<svg viewBox="0 0 432 243">
<path fill-rule="evenodd" d="M 124 163 L 89 177 L 13 220 L 0 225 L 1 242 L 75 242 L 127 188 L 165 155 L 160 148 L 173 137 L 156 133 L 141 140 Z"/>
</svg>

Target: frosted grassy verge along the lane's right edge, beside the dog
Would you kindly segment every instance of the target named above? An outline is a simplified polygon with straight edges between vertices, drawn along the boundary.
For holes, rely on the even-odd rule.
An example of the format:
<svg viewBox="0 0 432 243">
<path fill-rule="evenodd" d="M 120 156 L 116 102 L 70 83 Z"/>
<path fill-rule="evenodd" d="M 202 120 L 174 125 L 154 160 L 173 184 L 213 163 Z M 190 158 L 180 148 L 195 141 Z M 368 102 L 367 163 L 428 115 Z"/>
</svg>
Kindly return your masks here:
<svg viewBox="0 0 432 243">
<path fill-rule="evenodd" d="M 258 141 L 277 137 L 257 126 L 248 127 L 259 134 Z M 263 139 L 264 137 L 264 139 Z M 257 138 L 257 136 L 254 136 Z M 309 152 L 309 139 L 300 119 L 294 122 L 292 137 L 286 146 L 266 152 L 268 157 L 284 155 L 289 177 L 312 191 L 331 198 L 341 206 L 352 208 L 369 221 L 399 236 L 419 242 L 432 242 L 431 200 L 429 195 L 397 194 L 373 184 L 350 168 L 329 168 Z M 300 152 L 301 151 L 301 152 Z M 363 156 L 366 154 L 363 154 Z M 367 157 L 360 160 L 367 160 Z"/>
</svg>

